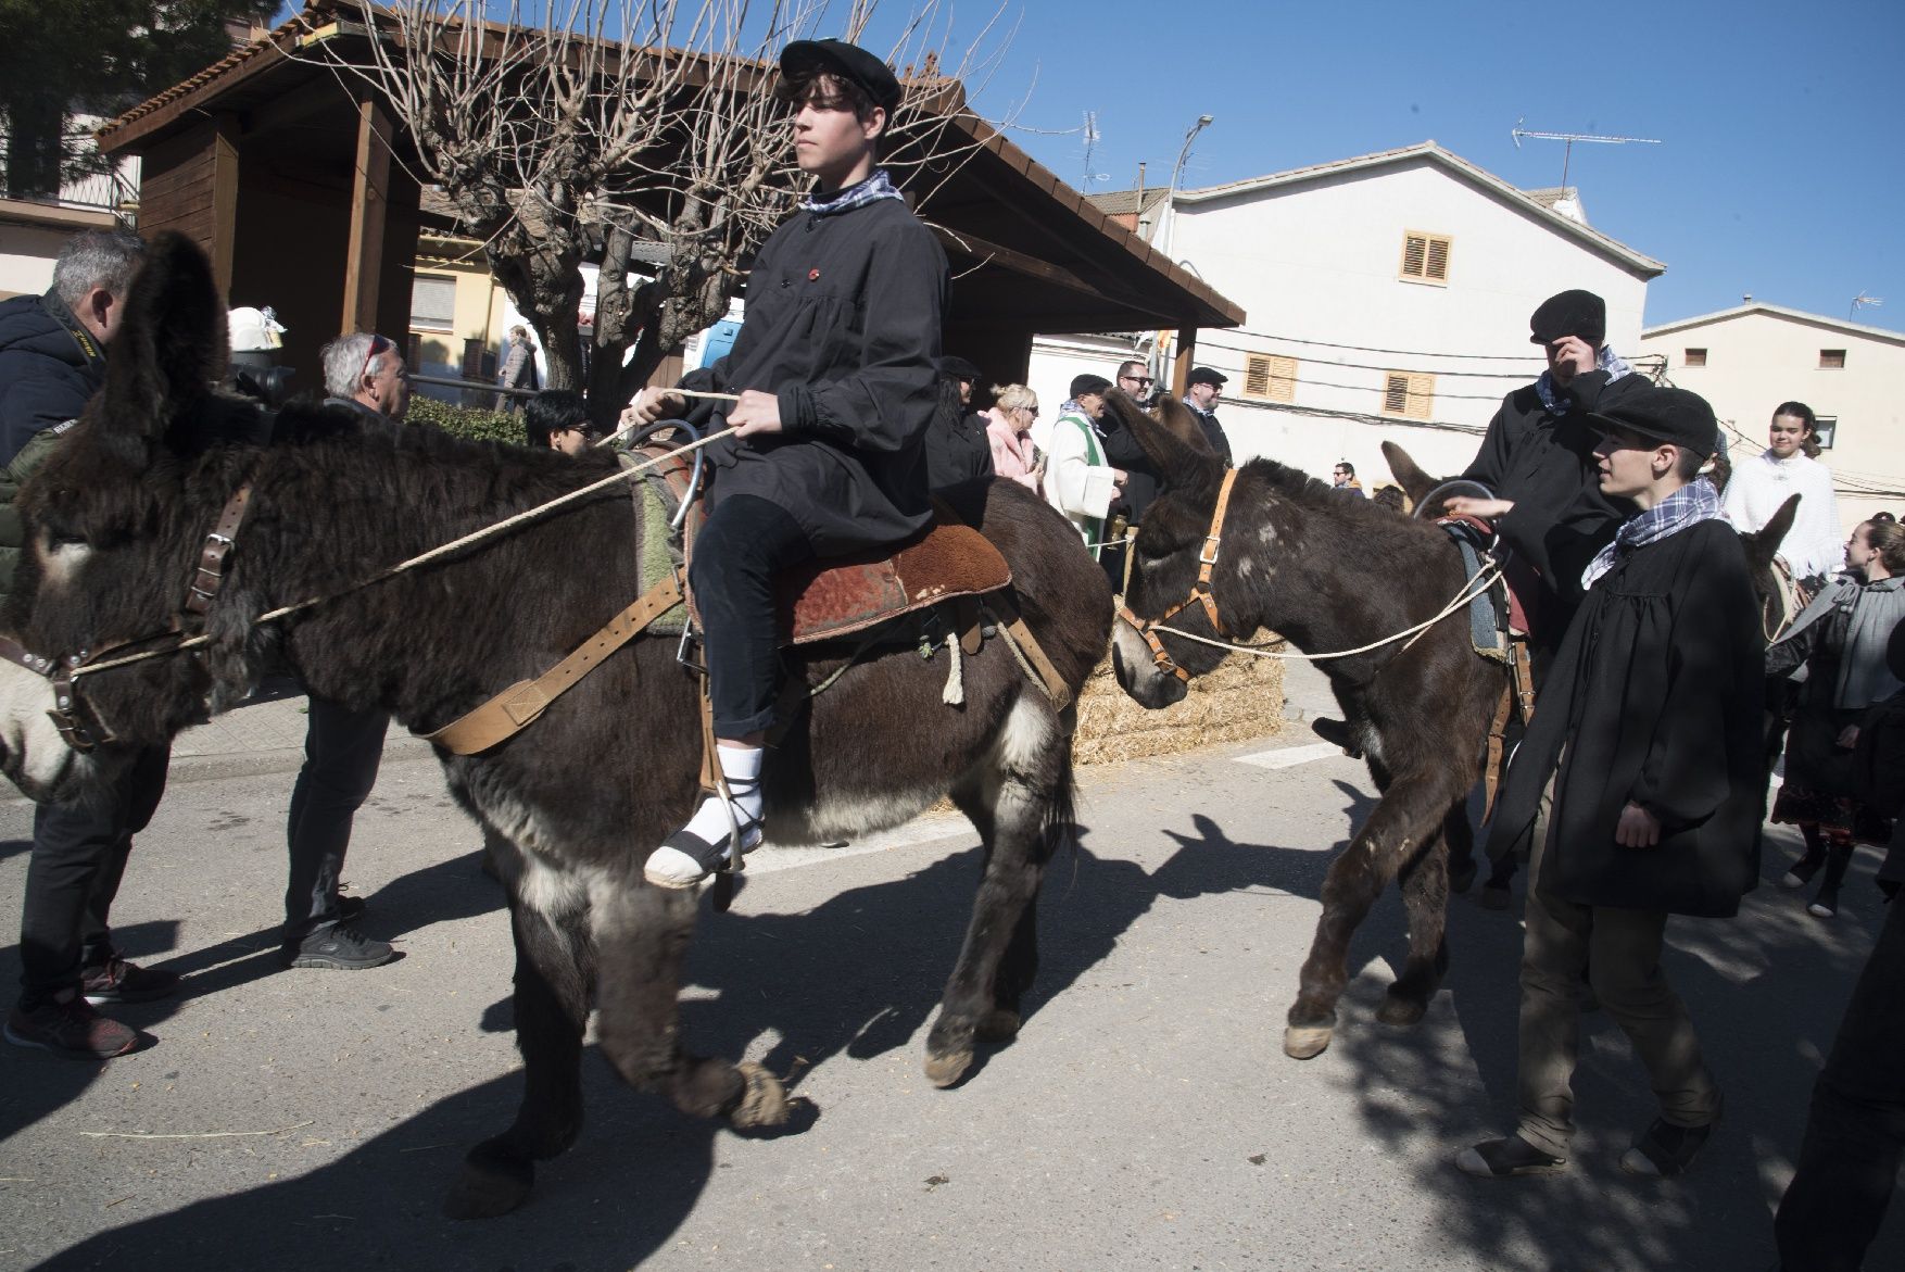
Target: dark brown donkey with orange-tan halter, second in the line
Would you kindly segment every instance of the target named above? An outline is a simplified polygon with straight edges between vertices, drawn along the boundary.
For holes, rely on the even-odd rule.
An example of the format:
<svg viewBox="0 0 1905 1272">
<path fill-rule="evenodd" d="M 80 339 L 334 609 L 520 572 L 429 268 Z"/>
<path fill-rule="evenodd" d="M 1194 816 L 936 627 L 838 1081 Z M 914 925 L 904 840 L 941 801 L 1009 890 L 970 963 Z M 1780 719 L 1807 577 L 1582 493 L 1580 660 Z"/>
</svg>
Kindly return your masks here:
<svg viewBox="0 0 1905 1272">
<path fill-rule="evenodd" d="M 1113 409 L 1168 487 L 1137 535 L 1124 600 L 1139 621 L 1193 598 L 1200 558 L 1215 560 L 1208 586 L 1223 630 L 1213 630 L 1208 607 L 1196 600 L 1168 626 L 1233 642 L 1269 628 L 1305 653 L 1383 640 L 1433 617 L 1461 590 L 1461 556 L 1446 533 L 1269 459 L 1236 470 L 1223 524 L 1213 526 L 1225 470 L 1196 440 L 1194 425 L 1179 417 L 1183 407 L 1166 402 L 1162 425 L 1128 400 Z M 1162 651 L 1124 619 L 1113 636 L 1118 684 L 1145 706 L 1179 701 L 1187 676 L 1227 657 L 1225 649 L 1183 636 L 1153 636 Z M 1448 967 L 1448 842 L 1467 861 L 1465 802 L 1505 684 L 1501 666 L 1471 647 L 1463 613 L 1415 640 L 1316 666 L 1330 676 L 1381 800 L 1324 876 L 1322 918 L 1284 1030 L 1284 1051 L 1299 1061 L 1330 1045 L 1351 935 L 1398 876 L 1410 954 L 1377 1019 L 1415 1024 L 1427 1011 Z"/>
</svg>

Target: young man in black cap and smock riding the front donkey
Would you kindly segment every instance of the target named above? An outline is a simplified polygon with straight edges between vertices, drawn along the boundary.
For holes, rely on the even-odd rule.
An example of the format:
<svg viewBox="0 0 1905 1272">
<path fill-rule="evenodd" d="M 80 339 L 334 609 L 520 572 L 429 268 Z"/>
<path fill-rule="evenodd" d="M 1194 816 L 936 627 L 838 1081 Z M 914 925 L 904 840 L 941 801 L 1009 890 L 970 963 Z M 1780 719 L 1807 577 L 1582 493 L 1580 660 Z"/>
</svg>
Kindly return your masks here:
<svg viewBox="0 0 1905 1272">
<path fill-rule="evenodd" d="M 899 80 L 867 50 L 796 40 L 779 95 L 815 187 L 762 244 L 733 348 L 682 379 L 739 394 L 714 421 L 733 436 L 709 447 L 711 510 L 690 567 L 726 790 L 650 853 L 644 874 L 661 887 L 692 887 L 760 844 L 762 743 L 781 678 L 773 579 L 813 556 L 892 547 L 932 520 L 924 438 L 949 280 L 932 230 L 874 166 Z M 644 388 L 623 423 L 684 406 Z"/>
</svg>

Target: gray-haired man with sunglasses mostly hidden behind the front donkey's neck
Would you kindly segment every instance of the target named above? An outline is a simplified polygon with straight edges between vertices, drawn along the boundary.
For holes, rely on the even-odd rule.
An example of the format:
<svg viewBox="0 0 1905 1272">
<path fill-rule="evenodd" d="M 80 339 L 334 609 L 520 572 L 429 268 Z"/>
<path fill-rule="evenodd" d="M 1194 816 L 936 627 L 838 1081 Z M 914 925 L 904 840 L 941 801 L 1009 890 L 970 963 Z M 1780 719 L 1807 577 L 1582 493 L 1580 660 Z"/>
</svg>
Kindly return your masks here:
<svg viewBox="0 0 1905 1272">
<path fill-rule="evenodd" d="M 410 377 L 396 345 L 370 331 L 339 335 L 324 347 L 326 406 L 364 417 L 368 428 L 391 428 L 410 409 Z M 339 897 L 351 823 L 377 785 L 383 735 L 391 716 L 377 708 L 352 710 L 311 695 L 305 724 L 305 765 L 291 786 L 284 836 L 291 849 L 291 878 L 284 889 L 284 960 L 291 967 L 362 971 L 394 958 L 389 941 L 356 929 L 364 903 Z"/>
</svg>

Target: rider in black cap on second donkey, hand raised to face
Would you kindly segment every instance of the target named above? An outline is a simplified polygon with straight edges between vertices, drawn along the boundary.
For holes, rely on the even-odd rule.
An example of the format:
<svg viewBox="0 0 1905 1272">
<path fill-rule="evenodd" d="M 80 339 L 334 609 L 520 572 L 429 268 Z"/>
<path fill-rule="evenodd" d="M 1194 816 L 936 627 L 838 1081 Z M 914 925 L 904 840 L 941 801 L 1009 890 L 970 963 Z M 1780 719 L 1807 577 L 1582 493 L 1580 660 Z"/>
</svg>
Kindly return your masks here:
<svg viewBox="0 0 1905 1272">
<path fill-rule="evenodd" d="M 1596 434 L 1583 415 L 1646 381 L 1608 348 L 1608 307 L 1593 291 L 1551 295 L 1528 326 L 1549 369 L 1501 400 L 1482 449 L 1461 474 L 1495 497 L 1454 499 L 1450 512 L 1494 520 L 1501 541 L 1541 577 L 1541 592 L 1522 598 L 1539 684 L 1581 604 L 1581 569 L 1633 512 L 1596 486 Z"/>
</svg>

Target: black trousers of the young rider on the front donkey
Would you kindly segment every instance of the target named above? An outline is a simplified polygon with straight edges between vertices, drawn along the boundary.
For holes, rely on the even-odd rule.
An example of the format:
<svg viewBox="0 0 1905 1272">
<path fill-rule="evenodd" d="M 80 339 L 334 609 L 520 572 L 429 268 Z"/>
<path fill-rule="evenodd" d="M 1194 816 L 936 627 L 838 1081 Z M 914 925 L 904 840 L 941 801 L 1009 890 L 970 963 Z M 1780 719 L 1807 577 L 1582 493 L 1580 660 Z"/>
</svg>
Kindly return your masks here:
<svg viewBox="0 0 1905 1272">
<path fill-rule="evenodd" d="M 812 556 L 800 522 L 756 495 L 716 499 L 695 537 L 688 585 L 705 628 L 714 737 L 741 739 L 773 724 L 781 687 L 773 577 Z"/>
</svg>

